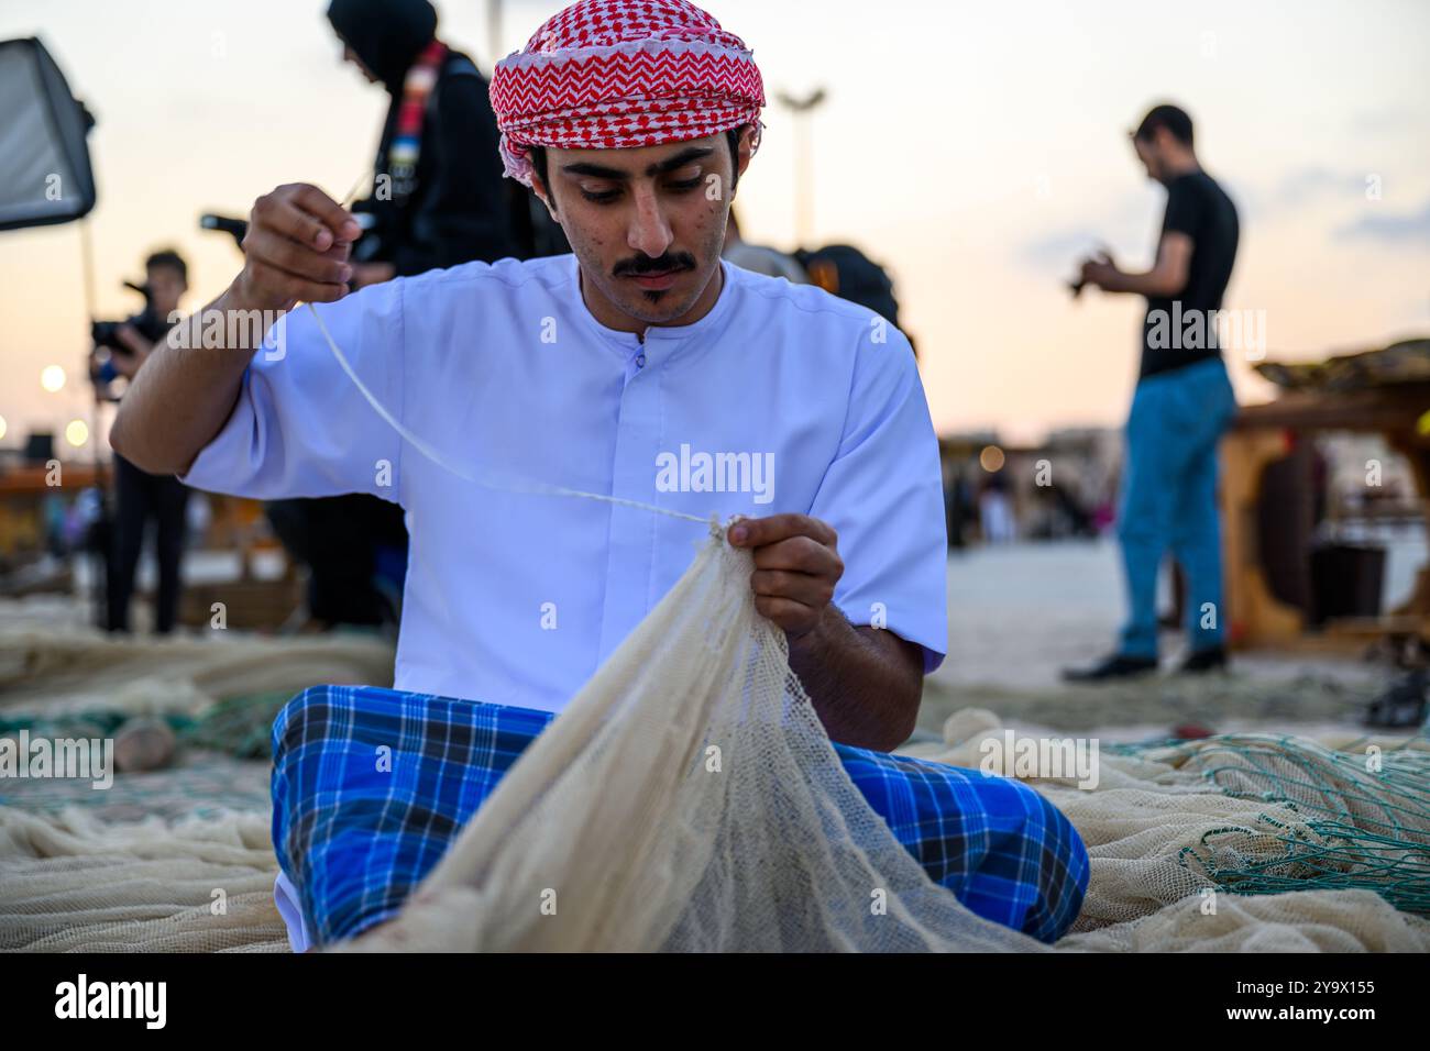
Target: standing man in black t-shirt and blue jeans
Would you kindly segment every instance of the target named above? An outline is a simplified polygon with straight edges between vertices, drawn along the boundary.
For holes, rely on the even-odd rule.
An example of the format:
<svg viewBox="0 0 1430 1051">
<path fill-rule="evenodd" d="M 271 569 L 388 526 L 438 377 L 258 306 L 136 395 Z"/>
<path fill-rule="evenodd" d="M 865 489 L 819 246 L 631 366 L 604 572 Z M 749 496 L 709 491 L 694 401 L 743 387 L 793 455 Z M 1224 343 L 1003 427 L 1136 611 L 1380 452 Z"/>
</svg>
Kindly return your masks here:
<svg viewBox="0 0 1430 1051">
<path fill-rule="evenodd" d="M 1183 110 L 1154 107 L 1133 132 L 1133 147 L 1148 177 L 1167 187 L 1157 263 L 1147 273 L 1127 273 L 1103 255 L 1083 263 L 1080 282 L 1147 297 L 1118 512 L 1128 621 L 1117 652 L 1065 672 L 1078 682 L 1157 668 L 1157 572 L 1168 551 L 1187 575 L 1191 652 L 1183 671 L 1227 662 L 1217 443 L 1236 416 L 1236 398 L 1218 335 L 1221 296 L 1237 255 L 1237 210 L 1201 170 L 1191 117 Z"/>
</svg>

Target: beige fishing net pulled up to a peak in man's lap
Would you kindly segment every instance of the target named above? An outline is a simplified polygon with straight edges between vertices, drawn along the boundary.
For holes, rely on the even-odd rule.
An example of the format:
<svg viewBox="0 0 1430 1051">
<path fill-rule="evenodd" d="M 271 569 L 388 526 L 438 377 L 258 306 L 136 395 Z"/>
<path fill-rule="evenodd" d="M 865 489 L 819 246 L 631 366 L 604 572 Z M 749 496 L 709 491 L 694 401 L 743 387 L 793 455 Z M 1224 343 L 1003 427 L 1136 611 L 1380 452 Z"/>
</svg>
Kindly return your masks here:
<svg viewBox="0 0 1430 1051">
<path fill-rule="evenodd" d="M 368 949 L 1018 949 L 844 772 L 748 551 L 694 565 Z"/>
</svg>

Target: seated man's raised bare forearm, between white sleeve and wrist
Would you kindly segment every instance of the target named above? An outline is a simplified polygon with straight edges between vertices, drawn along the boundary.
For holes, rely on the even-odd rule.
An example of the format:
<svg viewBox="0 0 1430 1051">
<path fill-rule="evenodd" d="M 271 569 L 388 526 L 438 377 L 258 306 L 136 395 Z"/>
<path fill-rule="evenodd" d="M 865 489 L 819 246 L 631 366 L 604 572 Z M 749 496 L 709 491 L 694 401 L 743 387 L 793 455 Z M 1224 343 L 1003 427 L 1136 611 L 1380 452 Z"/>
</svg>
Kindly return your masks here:
<svg viewBox="0 0 1430 1051">
<path fill-rule="evenodd" d="M 250 310 L 230 289 L 179 322 L 174 339 L 162 339 L 124 392 L 109 442 L 117 453 L 154 475 L 184 473 L 199 452 L 223 429 L 239 398 L 243 370 L 256 346 L 247 325 L 203 322 Z M 219 312 L 217 315 L 212 312 Z M 237 315 L 243 316 L 243 315 Z M 222 329 L 222 336 L 219 330 Z M 212 332 L 212 335 L 210 335 Z M 207 339 L 194 336 L 207 335 Z M 212 346 L 230 339 L 239 346 Z M 209 346 L 204 346 L 204 343 Z"/>
</svg>

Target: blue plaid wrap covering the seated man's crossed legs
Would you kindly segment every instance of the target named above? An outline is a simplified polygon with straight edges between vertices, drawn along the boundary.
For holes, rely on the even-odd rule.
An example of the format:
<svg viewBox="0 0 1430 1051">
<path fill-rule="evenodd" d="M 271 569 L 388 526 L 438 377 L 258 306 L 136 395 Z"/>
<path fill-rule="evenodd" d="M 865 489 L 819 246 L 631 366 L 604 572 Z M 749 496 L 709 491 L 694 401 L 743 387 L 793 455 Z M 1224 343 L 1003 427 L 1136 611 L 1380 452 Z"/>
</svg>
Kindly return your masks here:
<svg viewBox="0 0 1430 1051">
<path fill-rule="evenodd" d="M 553 718 L 373 686 L 289 701 L 273 724 L 273 842 L 313 939 L 395 915 Z M 1071 927 L 1087 849 L 1041 795 L 944 764 L 835 751 L 898 841 L 970 909 L 1042 941 Z"/>
</svg>

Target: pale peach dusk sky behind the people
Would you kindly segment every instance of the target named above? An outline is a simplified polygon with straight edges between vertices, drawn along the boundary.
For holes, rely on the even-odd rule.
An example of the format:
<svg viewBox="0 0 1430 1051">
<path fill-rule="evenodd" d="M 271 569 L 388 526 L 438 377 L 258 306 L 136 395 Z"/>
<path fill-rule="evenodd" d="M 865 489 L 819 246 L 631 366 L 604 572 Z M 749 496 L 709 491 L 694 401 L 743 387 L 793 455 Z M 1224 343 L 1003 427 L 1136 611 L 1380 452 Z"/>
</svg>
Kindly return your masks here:
<svg viewBox="0 0 1430 1051">
<path fill-rule="evenodd" d="M 559 3 L 438 3 L 440 36 L 485 73 Z M 755 51 L 771 106 L 739 183 L 746 239 L 792 247 L 798 194 L 815 245 L 888 266 L 941 432 L 1117 425 L 1135 378 L 1141 300 L 1065 280 L 1105 245 L 1145 267 L 1164 192 L 1127 130 L 1157 102 L 1197 122 L 1204 167 L 1241 210 L 1224 306 L 1257 312 L 1270 359 L 1430 333 L 1430 4 L 1000 3 L 704 4 Z M 144 255 L 190 262 L 186 306 L 237 272 L 197 216 L 246 214 L 285 182 L 342 197 L 370 170 L 385 93 L 339 60 L 312 0 L 4 0 L 0 39 L 40 36 L 96 114 L 100 199 L 89 223 L 100 316 Z M 812 187 L 797 184 L 779 92 L 822 86 Z M 0 416 L 89 418 L 77 224 L 0 233 Z M 69 373 L 40 386 L 47 365 Z M 1231 355 L 1243 400 L 1268 388 Z"/>
</svg>

